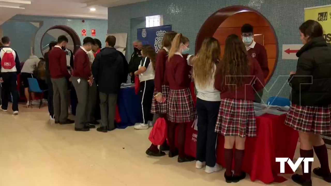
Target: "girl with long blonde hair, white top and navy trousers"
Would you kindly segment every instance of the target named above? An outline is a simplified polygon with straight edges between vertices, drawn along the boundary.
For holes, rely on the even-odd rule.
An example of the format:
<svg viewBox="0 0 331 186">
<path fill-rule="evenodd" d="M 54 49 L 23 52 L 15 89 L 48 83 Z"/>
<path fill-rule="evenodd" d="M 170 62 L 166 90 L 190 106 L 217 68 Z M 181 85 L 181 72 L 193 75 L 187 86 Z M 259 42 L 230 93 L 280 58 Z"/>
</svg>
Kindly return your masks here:
<svg viewBox="0 0 331 186">
<path fill-rule="evenodd" d="M 215 124 L 221 98 L 220 92 L 214 88 L 216 64 L 220 61 L 221 48 L 217 39 L 206 38 L 198 54 L 192 60 L 193 80 L 197 91 L 198 137 L 196 168 L 206 165 L 205 172 L 220 170 L 216 163 Z"/>
</svg>

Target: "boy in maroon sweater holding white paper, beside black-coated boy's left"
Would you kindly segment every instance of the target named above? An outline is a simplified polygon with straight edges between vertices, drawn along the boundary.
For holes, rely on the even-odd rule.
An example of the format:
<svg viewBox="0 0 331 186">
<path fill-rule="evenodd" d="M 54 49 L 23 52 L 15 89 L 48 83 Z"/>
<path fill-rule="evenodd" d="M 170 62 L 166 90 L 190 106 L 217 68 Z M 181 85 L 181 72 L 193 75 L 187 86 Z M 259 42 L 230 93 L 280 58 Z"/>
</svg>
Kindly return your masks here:
<svg viewBox="0 0 331 186">
<path fill-rule="evenodd" d="M 83 46 L 76 51 L 73 59 L 73 72 L 71 79 L 78 100 L 75 131 L 89 131 L 90 128 L 95 128 L 94 125 L 88 123 L 89 120 L 87 119 L 88 88 L 92 85 L 91 83 L 93 81 L 87 52 L 92 49 L 93 45 L 93 38 L 85 37 L 83 40 Z"/>
</svg>

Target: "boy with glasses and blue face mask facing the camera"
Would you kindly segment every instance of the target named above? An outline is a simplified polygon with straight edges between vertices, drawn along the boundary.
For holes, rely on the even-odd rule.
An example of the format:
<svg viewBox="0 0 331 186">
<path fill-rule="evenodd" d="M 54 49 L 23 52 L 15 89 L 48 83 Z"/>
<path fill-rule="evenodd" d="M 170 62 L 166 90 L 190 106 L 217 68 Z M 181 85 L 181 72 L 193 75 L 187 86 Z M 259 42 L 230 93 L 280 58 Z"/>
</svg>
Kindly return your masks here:
<svg viewBox="0 0 331 186">
<path fill-rule="evenodd" d="M 263 45 L 254 41 L 253 26 L 247 23 L 244 24 L 241 27 L 241 36 L 243 38 L 248 55 L 252 56 L 259 62 L 263 71 L 263 77 L 266 78 L 269 74 L 267 52 Z M 264 79 L 260 79 L 260 81 L 264 82 Z M 261 103 L 262 95 L 263 89 L 255 93 L 256 103 Z"/>
</svg>

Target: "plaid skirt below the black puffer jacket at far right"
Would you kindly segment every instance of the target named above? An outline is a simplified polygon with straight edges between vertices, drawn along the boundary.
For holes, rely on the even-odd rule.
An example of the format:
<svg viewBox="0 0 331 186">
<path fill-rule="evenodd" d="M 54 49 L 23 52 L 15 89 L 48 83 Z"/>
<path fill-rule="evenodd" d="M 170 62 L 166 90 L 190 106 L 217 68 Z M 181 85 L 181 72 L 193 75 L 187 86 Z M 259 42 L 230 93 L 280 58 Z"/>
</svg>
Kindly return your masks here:
<svg viewBox="0 0 331 186">
<path fill-rule="evenodd" d="M 292 104 L 285 119 L 285 125 L 300 132 L 331 134 L 331 105 L 323 107 Z"/>
</svg>

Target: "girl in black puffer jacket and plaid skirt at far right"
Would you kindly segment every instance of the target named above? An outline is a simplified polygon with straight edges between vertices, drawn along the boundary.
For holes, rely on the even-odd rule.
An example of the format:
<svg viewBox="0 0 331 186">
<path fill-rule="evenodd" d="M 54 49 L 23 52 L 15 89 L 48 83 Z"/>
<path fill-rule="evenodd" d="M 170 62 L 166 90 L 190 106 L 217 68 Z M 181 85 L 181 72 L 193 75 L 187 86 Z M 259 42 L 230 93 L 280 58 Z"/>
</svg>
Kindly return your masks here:
<svg viewBox="0 0 331 186">
<path fill-rule="evenodd" d="M 331 134 L 331 48 L 323 37 L 320 23 L 308 20 L 300 27 L 300 39 L 304 46 L 297 52 L 296 72 L 290 73 L 291 108 L 285 124 L 299 132 L 300 157 L 313 158 L 314 151 L 321 167 L 314 174 L 331 183 L 328 152 L 321 135 Z M 303 186 L 311 186 L 311 162 L 308 172 L 293 174 L 292 180 Z"/>
</svg>

